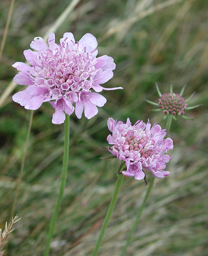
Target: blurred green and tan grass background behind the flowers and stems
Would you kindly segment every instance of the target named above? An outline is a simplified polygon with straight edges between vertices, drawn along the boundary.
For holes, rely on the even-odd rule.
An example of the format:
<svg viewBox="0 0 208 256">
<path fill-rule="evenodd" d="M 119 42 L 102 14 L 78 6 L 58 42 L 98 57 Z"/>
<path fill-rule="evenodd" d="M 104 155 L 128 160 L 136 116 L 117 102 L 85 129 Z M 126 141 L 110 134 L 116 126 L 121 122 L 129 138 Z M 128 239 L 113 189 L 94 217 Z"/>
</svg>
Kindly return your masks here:
<svg viewBox="0 0 208 256">
<path fill-rule="evenodd" d="M 44 36 L 66 10 L 66 0 L 16 0 L 0 68 L 0 92 L 10 87 L 15 62 L 24 62 L 23 50 L 35 36 Z M 10 1 L 1 0 L 0 40 Z M 108 100 L 96 117 L 80 120 L 71 115 L 70 163 L 64 200 L 54 237 L 52 256 L 88 256 L 108 209 L 120 162 L 99 160 L 110 153 L 106 136 L 109 117 L 125 121 L 147 118 L 165 128 L 161 112 L 144 99 L 157 101 L 161 93 L 196 95 L 187 111 L 194 119 L 173 121 L 169 137 L 174 155 L 167 166 L 171 174 L 156 179 L 140 225 L 128 249 L 129 256 L 208 255 L 208 3 L 205 0 L 91 0 L 78 1 L 56 31 L 56 42 L 65 32 L 75 40 L 85 33 L 98 39 L 98 56 L 107 54 L 117 65 L 105 87 L 123 90 L 102 92 Z M 12 94 L 22 90 L 17 86 Z M 51 123 L 54 109 L 46 102 L 34 112 L 26 163 L 15 213 L 21 221 L 10 234 L 8 256 L 43 254 L 62 165 L 64 125 Z M 0 108 L 0 228 L 9 221 L 20 172 L 30 111 L 6 97 Z M 150 174 L 147 172 L 147 178 Z M 119 255 L 146 192 L 143 181 L 124 178 L 116 208 L 99 255 Z"/>
</svg>

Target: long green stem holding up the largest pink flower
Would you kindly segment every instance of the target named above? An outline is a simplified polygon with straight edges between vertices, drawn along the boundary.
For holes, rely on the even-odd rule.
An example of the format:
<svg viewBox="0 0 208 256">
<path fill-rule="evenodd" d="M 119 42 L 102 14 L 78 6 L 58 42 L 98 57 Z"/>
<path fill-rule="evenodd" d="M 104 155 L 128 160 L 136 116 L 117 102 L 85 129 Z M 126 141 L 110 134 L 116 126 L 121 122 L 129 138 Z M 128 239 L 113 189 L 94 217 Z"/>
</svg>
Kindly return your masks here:
<svg viewBox="0 0 208 256">
<path fill-rule="evenodd" d="M 67 176 L 67 167 L 68 167 L 68 152 L 69 152 L 69 145 L 70 145 L 70 117 L 67 114 L 66 114 L 66 120 L 65 120 L 64 125 L 65 125 L 64 126 L 65 127 L 65 132 L 64 132 L 65 133 L 64 158 L 63 158 L 63 164 L 62 164 L 59 195 L 58 195 L 58 198 L 56 200 L 55 209 L 54 209 L 54 212 L 53 212 L 53 216 L 52 216 L 49 231 L 48 231 L 48 239 L 47 239 L 47 242 L 46 242 L 46 249 L 45 249 L 44 256 L 49 255 L 51 239 L 52 239 L 52 236 L 53 236 L 53 230 L 54 230 L 56 218 L 57 218 L 57 215 L 58 215 L 59 206 L 60 206 L 63 194 L 64 194 L 64 188 L 65 188 L 65 185 L 66 185 L 66 176 Z"/>
</svg>

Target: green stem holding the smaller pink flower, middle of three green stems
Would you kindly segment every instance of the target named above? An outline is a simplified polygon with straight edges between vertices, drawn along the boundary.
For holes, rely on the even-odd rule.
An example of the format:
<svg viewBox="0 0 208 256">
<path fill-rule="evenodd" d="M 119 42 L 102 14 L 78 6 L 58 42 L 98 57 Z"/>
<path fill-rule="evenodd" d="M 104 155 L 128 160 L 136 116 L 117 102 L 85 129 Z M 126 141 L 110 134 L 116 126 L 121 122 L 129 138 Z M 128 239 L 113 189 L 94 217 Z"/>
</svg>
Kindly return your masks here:
<svg viewBox="0 0 208 256">
<path fill-rule="evenodd" d="M 97 243 L 96 243 L 96 247 L 94 248 L 94 251 L 93 251 L 93 254 L 92 256 L 96 256 L 97 253 L 98 253 L 98 249 L 100 247 L 100 243 L 103 239 L 103 236 L 105 234 L 105 229 L 107 228 L 107 225 L 109 223 L 109 220 L 110 220 L 110 217 L 112 215 L 112 212 L 114 211 L 114 206 L 116 204 L 116 200 L 117 200 L 117 197 L 118 197 L 118 192 L 121 188 L 121 184 L 122 184 L 122 181 L 123 181 L 123 174 L 121 175 L 118 175 L 118 181 L 117 181 L 117 184 L 116 184 L 116 188 L 115 188 L 115 192 L 114 192 L 114 196 L 112 197 L 112 200 L 111 200 L 111 203 L 110 203 L 110 206 L 109 206 L 109 209 L 108 209 L 108 212 L 106 214 L 106 217 L 105 217 L 105 220 L 104 220 L 104 223 L 103 223 L 103 227 L 102 229 L 100 230 L 100 234 L 98 236 L 98 240 L 97 240 Z"/>
</svg>

